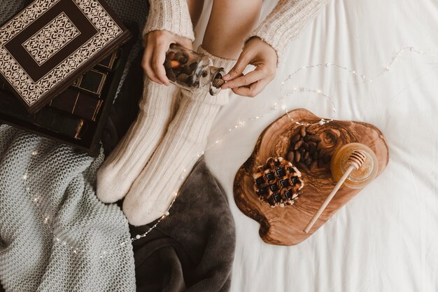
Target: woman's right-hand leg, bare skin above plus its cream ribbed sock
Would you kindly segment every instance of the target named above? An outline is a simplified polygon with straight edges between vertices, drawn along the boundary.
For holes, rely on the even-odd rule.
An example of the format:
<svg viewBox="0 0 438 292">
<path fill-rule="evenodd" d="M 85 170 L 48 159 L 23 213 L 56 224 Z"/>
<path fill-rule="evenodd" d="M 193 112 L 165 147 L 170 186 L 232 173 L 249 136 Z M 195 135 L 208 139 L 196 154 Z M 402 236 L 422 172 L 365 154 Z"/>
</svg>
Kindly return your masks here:
<svg viewBox="0 0 438 292">
<path fill-rule="evenodd" d="M 227 58 L 239 56 L 243 41 L 258 20 L 260 7 L 261 0 L 214 1 L 203 45 L 210 51 L 202 47 L 199 51 L 209 55 L 216 67 L 229 71 L 235 61 Z M 204 90 L 182 90 L 182 95 L 169 130 L 123 203 L 123 211 L 133 225 L 150 223 L 165 214 L 183 183 L 181 176 L 190 173 L 197 155 L 204 151 L 213 120 L 228 102 L 229 90 L 222 90 L 216 97 Z"/>
</svg>

